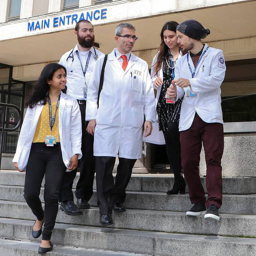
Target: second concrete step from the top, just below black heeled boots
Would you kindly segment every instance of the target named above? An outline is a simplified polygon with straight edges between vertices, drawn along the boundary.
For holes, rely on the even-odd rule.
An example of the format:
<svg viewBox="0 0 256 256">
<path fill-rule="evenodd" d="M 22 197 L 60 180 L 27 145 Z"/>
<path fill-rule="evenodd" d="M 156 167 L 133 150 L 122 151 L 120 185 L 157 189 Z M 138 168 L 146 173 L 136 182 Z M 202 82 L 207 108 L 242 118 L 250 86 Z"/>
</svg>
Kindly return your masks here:
<svg viewBox="0 0 256 256">
<path fill-rule="evenodd" d="M 0 200 L 25 202 L 23 191 L 23 186 L 0 185 Z M 44 188 L 41 188 L 40 199 L 42 202 L 44 202 L 43 191 Z M 96 191 L 94 191 L 89 203 L 91 206 L 97 206 Z M 255 205 L 256 194 L 223 195 L 223 204 L 219 212 L 232 214 L 256 214 Z M 166 195 L 166 193 L 160 192 L 133 191 L 127 191 L 125 206 L 129 209 L 168 210 L 176 212 L 185 212 L 192 207 L 188 194 Z"/>
</svg>

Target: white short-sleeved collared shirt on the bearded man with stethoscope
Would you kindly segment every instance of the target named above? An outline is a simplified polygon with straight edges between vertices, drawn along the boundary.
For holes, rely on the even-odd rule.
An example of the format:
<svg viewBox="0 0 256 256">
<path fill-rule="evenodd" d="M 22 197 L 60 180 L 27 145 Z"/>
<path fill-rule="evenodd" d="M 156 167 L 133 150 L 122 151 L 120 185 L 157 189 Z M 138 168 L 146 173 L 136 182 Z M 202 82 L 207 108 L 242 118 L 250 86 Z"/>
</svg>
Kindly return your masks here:
<svg viewBox="0 0 256 256">
<path fill-rule="evenodd" d="M 96 50 L 96 54 L 98 54 L 98 57 L 101 55 L 104 55 L 100 51 Z M 85 79 L 84 75 L 82 73 L 82 68 L 80 61 L 77 57 L 76 51 L 78 51 L 82 67 L 85 68 L 85 64 L 89 55 L 89 52 L 91 51 L 91 57 L 90 61 L 88 64 L 88 68 L 85 74 Z M 73 98 L 77 100 L 84 100 L 84 92 L 83 92 L 83 87 L 84 87 L 84 81 L 88 85 L 90 82 L 90 78 L 92 75 L 92 71 L 94 70 L 95 63 L 97 60 L 93 57 L 95 55 L 94 48 L 91 47 L 89 51 L 84 51 L 81 52 L 78 50 L 78 46 L 76 45 L 73 50 L 73 56 L 74 56 L 74 61 L 72 62 L 72 50 L 68 51 L 67 53 L 63 54 L 59 64 L 63 65 L 67 69 L 67 94 L 72 96 Z M 68 56 L 70 55 L 70 58 Z M 67 60 L 68 58 L 68 60 Z"/>
</svg>

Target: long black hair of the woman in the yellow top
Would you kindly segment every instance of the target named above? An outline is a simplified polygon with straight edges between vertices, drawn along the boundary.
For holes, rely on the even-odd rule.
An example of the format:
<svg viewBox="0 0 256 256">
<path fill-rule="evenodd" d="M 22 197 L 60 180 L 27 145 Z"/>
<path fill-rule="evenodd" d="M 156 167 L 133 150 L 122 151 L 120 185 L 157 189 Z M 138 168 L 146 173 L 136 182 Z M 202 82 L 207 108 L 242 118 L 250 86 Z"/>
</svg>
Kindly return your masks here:
<svg viewBox="0 0 256 256">
<path fill-rule="evenodd" d="M 47 92 L 50 89 L 50 86 L 48 85 L 47 81 L 53 79 L 53 74 L 56 70 L 63 68 L 65 73 L 67 74 L 67 70 L 63 65 L 57 64 L 57 63 L 50 63 L 47 64 L 41 74 L 40 77 L 38 78 L 36 84 L 33 87 L 32 92 L 30 95 L 28 95 L 27 100 L 26 100 L 26 106 L 33 108 L 38 101 L 41 101 L 41 104 L 46 104 L 47 102 Z M 67 91 L 67 87 L 65 89 L 61 90 L 64 93 Z"/>
</svg>

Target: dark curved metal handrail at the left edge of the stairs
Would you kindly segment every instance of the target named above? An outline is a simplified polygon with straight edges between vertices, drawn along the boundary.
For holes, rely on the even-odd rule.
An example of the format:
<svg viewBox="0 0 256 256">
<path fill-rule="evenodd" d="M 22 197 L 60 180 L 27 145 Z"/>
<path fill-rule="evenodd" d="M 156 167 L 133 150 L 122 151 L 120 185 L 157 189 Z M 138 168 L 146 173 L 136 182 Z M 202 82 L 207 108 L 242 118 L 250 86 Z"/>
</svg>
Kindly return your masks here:
<svg viewBox="0 0 256 256">
<path fill-rule="evenodd" d="M 9 103 L 1 103 L 0 102 L 0 107 L 3 107 L 3 118 L 2 118 L 1 125 L 0 125 L 0 169 L 1 169 L 4 132 L 5 131 L 14 132 L 20 127 L 20 125 L 21 125 L 21 111 L 16 105 L 9 104 Z M 4 127 L 4 121 L 6 120 L 6 108 L 14 108 L 18 112 L 18 123 L 13 128 Z"/>
</svg>

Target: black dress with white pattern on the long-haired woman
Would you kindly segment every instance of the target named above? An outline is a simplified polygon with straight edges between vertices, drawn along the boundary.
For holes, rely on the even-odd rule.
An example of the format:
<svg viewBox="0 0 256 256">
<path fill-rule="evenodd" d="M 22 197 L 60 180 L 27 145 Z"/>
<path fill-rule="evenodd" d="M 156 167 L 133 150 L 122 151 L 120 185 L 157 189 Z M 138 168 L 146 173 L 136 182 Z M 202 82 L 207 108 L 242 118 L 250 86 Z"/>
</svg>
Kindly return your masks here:
<svg viewBox="0 0 256 256">
<path fill-rule="evenodd" d="M 171 60 L 168 58 L 168 64 L 171 67 Z M 166 64 L 166 60 L 163 63 L 163 84 L 158 99 L 156 111 L 159 120 L 159 131 L 168 131 L 168 122 L 179 123 L 179 117 L 181 114 L 181 103 L 183 98 L 178 99 L 175 103 L 166 103 L 166 90 L 170 87 L 173 77 L 172 70 Z"/>
</svg>

